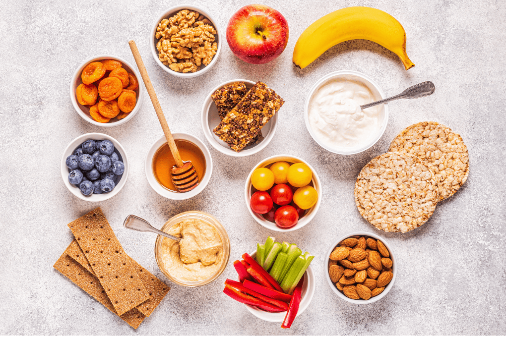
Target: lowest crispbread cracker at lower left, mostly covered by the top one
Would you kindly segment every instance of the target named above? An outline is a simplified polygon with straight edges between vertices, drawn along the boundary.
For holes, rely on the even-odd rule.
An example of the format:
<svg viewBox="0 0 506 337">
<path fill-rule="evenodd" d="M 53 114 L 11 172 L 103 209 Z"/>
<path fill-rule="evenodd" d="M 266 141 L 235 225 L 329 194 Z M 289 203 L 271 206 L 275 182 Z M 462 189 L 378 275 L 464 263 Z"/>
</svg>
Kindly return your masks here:
<svg viewBox="0 0 506 337">
<path fill-rule="evenodd" d="M 70 258 L 66 253 L 63 253 L 62 256 L 56 261 L 53 266 L 60 273 L 68 277 L 72 282 L 74 282 L 78 287 L 80 287 L 83 291 L 90 294 L 94 299 L 99 301 L 117 315 L 114 306 L 111 301 L 107 297 L 104 288 L 100 284 L 98 278 L 92 275 L 86 268 L 81 266 L 79 263 Z M 122 320 L 132 326 L 134 329 L 142 323 L 146 316 L 141 313 L 138 309 L 134 308 L 129 310 L 119 316 Z"/>
</svg>

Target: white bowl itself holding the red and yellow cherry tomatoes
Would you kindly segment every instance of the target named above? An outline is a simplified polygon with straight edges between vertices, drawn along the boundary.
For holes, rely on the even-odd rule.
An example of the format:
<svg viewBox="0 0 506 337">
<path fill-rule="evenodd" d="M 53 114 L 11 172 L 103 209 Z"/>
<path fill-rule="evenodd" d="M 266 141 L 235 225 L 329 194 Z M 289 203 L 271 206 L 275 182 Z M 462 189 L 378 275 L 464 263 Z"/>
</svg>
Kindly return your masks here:
<svg viewBox="0 0 506 337">
<path fill-rule="evenodd" d="M 288 163 L 293 163 L 293 164 L 304 163 L 307 166 L 309 166 L 309 168 L 311 169 L 311 172 L 313 172 L 313 179 L 311 180 L 313 182 L 313 187 L 318 192 L 318 201 L 316 202 L 316 204 L 313 207 L 311 207 L 310 209 L 306 210 L 306 214 L 304 214 L 304 216 L 301 219 L 299 219 L 299 221 L 297 222 L 297 224 L 295 226 L 290 227 L 290 228 L 278 227 L 274 222 L 270 222 L 270 221 L 264 219 L 264 217 L 261 214 L 253 212 L 251 210 L 251 207 L 249 206 L 249 200 L 251 199 L 251 189 L 253 187 L 251 185 L 251 176 L 253 175 L 253 172 L 260 167 L 265 167 L 265 166 L 268 166 L 268 165 L 276 163 L 276 162 L 288 162 Z M 267 229 L 271 229 L 271 230 L 274 230 L 277 232 L 289 232 L 289 231 L 304 227 L 316 215 L 316 212 L 318 211 L 318 208 L 320 207 L 320 203 L 321 203 L 321 199 L 322 199 L 321 182 L 320 182 L 320 178 L 316 174 L 315 169 L 311 165 L 309 165 L 308 162 L 302 160 L 301 158 L 295 157 L 295 156 L 290 156 L 290 155 L 272 156 L 272 157 L 266 158 L 263 161 L 261 161 L 260 163 L 258 163 L 251 170 L 251 172 L 249 172 L 249 175 L 246 178 L 246 184 L 244 186 L 244 198 L 246 200 L 246 208 L 248 209 L 249 214 L 251 214 L 251 216 L 255 220 L 257 220 L 258 223 L 260 223 L 262 226 L 264 226 Z"/>
</svg>

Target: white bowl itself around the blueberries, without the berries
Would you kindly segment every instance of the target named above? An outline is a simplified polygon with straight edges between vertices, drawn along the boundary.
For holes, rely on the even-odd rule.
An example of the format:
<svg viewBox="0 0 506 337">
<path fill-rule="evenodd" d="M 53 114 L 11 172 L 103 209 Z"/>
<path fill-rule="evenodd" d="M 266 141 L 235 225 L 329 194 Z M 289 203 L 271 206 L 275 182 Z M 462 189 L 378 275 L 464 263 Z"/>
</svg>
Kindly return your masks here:
<svg viewBox="0 0 506 337">
<path fill-rule="evenodd" d="M 65 160 L 67 159 L 68 156 L 73 155 L 74 151 L 78 147 L 80 147 L 83 142 L 85 142 L 88 139 L 110 140 L 112 142 L 112 145 L 114 145 L 114 149 L 116 149 L 119 152 L 119 155 L 121 156 L 121 159 L 122 159 L 123 164 L 125 166 L 125 170 L 123 172 L 123 175 L 121 176 L 121 179 L 119 180 L 118 184 L 116 186 L 114 186 L 113 190 L 111 190 L 110 192 L 104 192 L 102 194 L 92 194 L 91 196 L 87 197 L 81 193 L 78 186 L 73 185 L 68 181 L 68 174 L 70 173 L 70 171 L 69 171 L 69 168 L 67 167 L 67 165 L 65 164 Z M 65 184 L 65 186 L 68 188 L 68 190 L 74 196 L 76 196 L 77 198 L 82 199 L 82 200 L 97 202 L 97 201 L 104 201 L 109 198 L 112 198 L 119 193 L 121 188 L 123 188 L 123 186 L 126 183 L 126 178 L 128 178 L 129 162 L 128 162 L 128 157 L 126 157 L 125 150 L 123 149 L 121 144 L 116 139 L 114 139 L 111 136 L 108 136 L 107 134 L 93 132 L 93 133 L 83 134 L 83 135 L 75 138 L 74 140 L 72 140 L 70 142 L 70 144 L 67 145 L 67 147 L 65 148 L 65 151 L 63 152 L 60 168 L 61 168 L 63 183 Z"/>
</svg>

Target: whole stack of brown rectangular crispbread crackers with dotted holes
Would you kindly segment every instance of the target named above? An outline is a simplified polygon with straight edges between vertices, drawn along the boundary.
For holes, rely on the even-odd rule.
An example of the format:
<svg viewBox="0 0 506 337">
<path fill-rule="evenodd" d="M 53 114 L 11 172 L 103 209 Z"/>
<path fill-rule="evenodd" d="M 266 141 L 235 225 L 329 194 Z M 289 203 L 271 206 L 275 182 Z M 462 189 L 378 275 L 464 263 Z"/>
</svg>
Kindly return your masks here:
<svg viewBox="0 0 506 337">
<path fill-rule="evenodd" d="M 75 239 L 54 268 L 136 329 L 170 287 L 126 255 L 100 208 L 68 227 Z"/>
</svg>

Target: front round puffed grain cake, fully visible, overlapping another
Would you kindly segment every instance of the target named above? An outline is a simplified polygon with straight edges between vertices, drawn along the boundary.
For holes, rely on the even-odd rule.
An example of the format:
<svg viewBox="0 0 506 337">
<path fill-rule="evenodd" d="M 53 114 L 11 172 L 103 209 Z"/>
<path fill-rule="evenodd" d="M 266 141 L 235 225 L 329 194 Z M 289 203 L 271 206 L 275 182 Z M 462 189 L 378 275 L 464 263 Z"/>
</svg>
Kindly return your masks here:
<svg viewBox="0 0 506 337">
<path fill-rule="evenodd" d="M 355 202 L 364 219 L 377 229 L 405 233 L 424 224 L 434 212 L 436 179 L 418 157 L 388 152 L 360 171 Z"/>
</svg>

